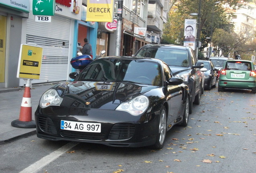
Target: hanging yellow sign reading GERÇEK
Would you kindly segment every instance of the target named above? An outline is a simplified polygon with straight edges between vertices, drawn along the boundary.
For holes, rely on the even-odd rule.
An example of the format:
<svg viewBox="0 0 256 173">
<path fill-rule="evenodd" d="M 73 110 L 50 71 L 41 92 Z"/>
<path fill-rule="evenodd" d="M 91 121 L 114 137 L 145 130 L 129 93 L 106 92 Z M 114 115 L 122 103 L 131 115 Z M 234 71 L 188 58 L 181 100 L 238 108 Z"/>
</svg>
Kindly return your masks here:
<svg viewBox="0 0 256 173">
<path fill-rule="evenodd" d="M 87 0 L 86 21 L 113 22 L 115 0 Z"/>
</svg>

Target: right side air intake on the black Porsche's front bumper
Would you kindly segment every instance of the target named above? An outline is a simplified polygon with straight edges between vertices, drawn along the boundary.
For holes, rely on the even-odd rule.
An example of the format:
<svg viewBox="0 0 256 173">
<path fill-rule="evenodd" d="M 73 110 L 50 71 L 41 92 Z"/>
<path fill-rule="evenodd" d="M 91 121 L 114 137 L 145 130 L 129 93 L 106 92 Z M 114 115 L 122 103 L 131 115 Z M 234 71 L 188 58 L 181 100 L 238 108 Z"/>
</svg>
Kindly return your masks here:
<svg viewBox="0 0 256 173">
<path fill-rule="evenodd" d="M 135 125 L 128 123 L 118 123 L 114 125 L 109 133 L 110 140 L 129 139 L 134 135 Z"/>
</svg>

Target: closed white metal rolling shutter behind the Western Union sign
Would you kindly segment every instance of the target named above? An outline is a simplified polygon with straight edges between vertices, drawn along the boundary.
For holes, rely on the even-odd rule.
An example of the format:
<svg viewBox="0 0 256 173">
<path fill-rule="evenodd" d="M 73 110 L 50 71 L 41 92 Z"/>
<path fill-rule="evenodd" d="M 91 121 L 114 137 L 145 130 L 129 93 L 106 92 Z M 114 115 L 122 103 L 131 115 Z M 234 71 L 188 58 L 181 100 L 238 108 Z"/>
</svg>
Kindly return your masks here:
<svg viewBox="0 0 256 173">
<path fill-rule="evenodd" d="M 52 22 L 27 20 L 26 43 L 43 47 L 39 80 L 32 83 L 67 80 L 70 19 L 52 16 Z"/>
</svg>

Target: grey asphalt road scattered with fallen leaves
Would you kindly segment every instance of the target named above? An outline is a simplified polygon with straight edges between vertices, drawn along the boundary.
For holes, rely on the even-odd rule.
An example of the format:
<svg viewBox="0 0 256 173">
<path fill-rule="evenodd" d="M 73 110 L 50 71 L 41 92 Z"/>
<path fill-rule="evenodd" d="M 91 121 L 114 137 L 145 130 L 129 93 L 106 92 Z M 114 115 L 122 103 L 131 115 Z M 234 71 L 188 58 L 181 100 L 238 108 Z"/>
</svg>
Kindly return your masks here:
<svg viewBox="0 0 256 173">
<path fill-rule="evenodd" d="M 0 145 L 2 173 L 253 173 L 256 95 L 204 91 L 188 127 L 175 126 L 161 150 L 119 148 L 36 135 Z"/>
</svg>

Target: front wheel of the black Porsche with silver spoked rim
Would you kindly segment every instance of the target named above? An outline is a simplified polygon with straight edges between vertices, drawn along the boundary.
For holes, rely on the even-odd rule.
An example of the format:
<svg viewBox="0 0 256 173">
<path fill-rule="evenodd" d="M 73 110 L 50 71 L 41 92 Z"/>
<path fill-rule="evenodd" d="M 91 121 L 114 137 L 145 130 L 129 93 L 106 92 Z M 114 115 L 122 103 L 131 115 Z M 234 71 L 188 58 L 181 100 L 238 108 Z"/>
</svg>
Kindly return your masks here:
<svg viewBox="0 0 256 173">
<path fill-rule="evenodd" d="M 166 109 L 165 107 L 162 107 L 159 115 L 159 128 L 157 132 L 157 140 L 155 142 L 155 145 L 153 145 L 155 149 L 163 148 L 163 144 L 165 142 L 165 137 L 167 132 L 166 119 L 167 119 Z"/>
</svg>

